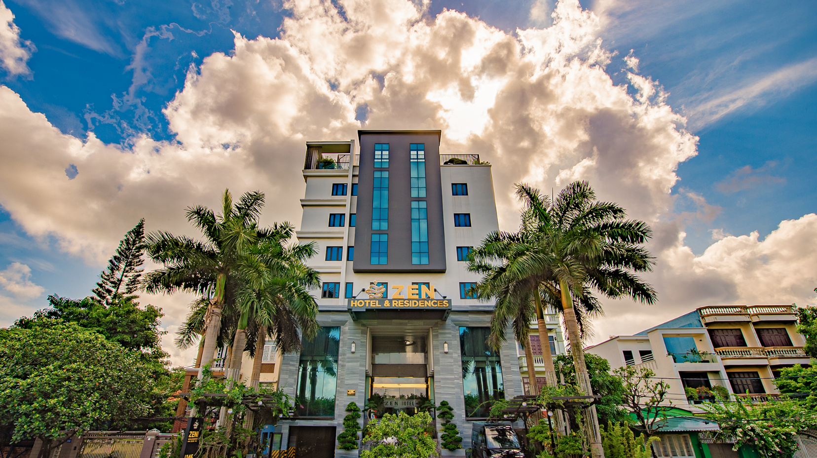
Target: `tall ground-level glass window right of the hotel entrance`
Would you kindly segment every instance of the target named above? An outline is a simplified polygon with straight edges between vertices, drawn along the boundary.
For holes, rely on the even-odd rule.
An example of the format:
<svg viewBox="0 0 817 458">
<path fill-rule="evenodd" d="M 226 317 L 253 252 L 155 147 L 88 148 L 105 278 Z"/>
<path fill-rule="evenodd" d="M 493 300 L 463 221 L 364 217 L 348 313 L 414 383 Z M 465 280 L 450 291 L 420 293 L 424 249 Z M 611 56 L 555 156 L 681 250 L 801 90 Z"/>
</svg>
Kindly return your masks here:
<svg viewBox="0 0 817 458">
<path fill-rule="evenodd" d="M 459 331 L 465 416 L 487 418 L 493 402 L 505 398 L 499 353 L 485 343 L 490 328 L 461 327 Z"/>
</svg>

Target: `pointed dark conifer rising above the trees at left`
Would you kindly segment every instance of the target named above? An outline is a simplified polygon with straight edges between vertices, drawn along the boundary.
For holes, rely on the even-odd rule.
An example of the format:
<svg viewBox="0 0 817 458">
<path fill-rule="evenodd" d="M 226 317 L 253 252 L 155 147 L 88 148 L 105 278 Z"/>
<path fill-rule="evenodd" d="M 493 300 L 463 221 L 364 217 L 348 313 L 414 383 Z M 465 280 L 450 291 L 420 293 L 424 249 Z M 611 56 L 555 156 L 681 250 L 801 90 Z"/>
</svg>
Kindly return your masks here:
<svg viewBox="0 0 817 458">
<path fill-rule="evenodd" d="M 145 253 L 145 218 L 127 231 L 125 238 L 119 241 L 116 253 L 108 261 L 108 268 L 102 271 L 100 281 L 92 290 L 96 299 L 105 305 L 111 305 L 118 296 L 136 299 L 132 296 L 139 289 L 142 276 L 142 254 Z"/>
</svg>

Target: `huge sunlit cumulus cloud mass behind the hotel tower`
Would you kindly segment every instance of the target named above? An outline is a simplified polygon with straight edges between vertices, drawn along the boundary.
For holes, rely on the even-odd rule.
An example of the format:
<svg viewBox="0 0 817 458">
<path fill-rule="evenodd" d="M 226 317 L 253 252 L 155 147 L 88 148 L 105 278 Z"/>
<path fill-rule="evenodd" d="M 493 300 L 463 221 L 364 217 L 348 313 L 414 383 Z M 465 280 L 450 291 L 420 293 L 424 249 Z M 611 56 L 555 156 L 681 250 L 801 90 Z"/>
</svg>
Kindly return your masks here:
<svg viewBox="0 0 817 458">
<path fill-rule="evenodd" d="M 445 152 L 492 161 L 503 228 L 518 224 L 514 182 L 558 189 L 586 179 L 654 225 L 651 281 L 662 294 L 688 268 L 670 192 L 698 138 L 649 77 L 629 74 L 630 88 L 611 81 L 600 20 L 576 0 L 558 2 L 546 28 L 516 34 L 457 11 L 429 18 L 427 3 L 404 0 L 284 7 L 280 38 L 236 34 L 233 52 L 190 68 L 164 110 L 175 141 L 135 137 L 123 149 L 92 133 L 65 135 L 0 88 L 0 159 L 9 164 L 0 168 L 0 204 L 30 234 L 54 236 L 91 263 L 104 262 L 141 217 L 150 229 L 198 236 L 182 210 L 215 207 L 225 187 L 265 191 L 265 222 L 297 223 L 305 141 L 355 138 L 365 119 L 366 128 L 440 128 Z M 673 294 L 654 309 L 680 314 L 690 298 L 709 298 Z M 161 300 L 169 330 L 189 301 Z M 633 310 L 609 303 L 608 317 Z"/>
</svg>

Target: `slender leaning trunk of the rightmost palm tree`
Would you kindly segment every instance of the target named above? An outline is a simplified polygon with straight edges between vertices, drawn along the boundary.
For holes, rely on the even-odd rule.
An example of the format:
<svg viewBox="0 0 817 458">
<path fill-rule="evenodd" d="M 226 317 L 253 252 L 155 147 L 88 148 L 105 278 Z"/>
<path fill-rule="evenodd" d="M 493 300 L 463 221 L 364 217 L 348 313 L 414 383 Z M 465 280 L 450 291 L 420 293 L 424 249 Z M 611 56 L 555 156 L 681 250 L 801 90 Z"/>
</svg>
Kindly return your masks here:
<svg viewBox="0 0 817 458">
<path fill-rule="evenodd" d="M 570 339 L 570 351 L 573 353 L 578 388 L 588 396 L 592 396 L 593 388 L 590 385 L 590 375 L 587 374 L 587 365 L 584 362 L 584 349 L 582 348 L 582 339 L 578 334 L 578 321 L 573 310 L 573 298 L 570 297 L 570 290 L 564 280 L 559 280 L 559 288 L 561 290 L 562 309 L 565 313 L 565 325 Z M 590 442 L 591 456 L 592 458 L 604 458 L 605 450 L 601 447 L 601 431 L 599 429 L 599 417 L 596 415 L 596 406 L 585 409 L 584 417 L 586 419 L 587 442 Z"/>
</svg>

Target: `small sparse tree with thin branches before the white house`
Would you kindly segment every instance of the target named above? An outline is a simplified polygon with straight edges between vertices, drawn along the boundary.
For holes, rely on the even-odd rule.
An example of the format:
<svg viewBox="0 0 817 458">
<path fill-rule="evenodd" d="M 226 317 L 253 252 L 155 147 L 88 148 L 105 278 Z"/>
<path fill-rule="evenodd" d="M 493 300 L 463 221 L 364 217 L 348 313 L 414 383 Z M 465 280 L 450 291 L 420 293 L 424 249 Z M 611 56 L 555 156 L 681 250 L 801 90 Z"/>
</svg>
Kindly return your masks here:
<svg viewBox="0 0 817 458">
<path fill-rule="evenodd" d="M 623 405 L 636 416 L 637 428 L 649 438 L 667 423 L 667 412 L 672 410 L 672 401 L 664 403 L 669 384 L 657 379 L 649 367 L 621 366 L 613 373 L 622 381 Z"/>
</svg>

